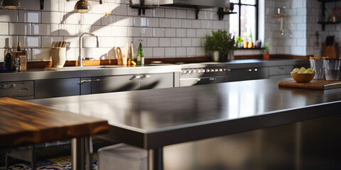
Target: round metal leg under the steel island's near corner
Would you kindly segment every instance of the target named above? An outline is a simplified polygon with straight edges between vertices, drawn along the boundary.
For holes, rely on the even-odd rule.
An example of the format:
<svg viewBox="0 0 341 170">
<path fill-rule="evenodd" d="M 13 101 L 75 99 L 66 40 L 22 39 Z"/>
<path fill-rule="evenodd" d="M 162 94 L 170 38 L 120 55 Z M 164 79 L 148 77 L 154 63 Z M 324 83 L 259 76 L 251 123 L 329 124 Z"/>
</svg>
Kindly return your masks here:
<svg viewBox="0 0 341 170">
<path fill-rule="evenodd" d="M 163 170 L 163 148 L 148 149 L 148 170 Z"/>
</svg>

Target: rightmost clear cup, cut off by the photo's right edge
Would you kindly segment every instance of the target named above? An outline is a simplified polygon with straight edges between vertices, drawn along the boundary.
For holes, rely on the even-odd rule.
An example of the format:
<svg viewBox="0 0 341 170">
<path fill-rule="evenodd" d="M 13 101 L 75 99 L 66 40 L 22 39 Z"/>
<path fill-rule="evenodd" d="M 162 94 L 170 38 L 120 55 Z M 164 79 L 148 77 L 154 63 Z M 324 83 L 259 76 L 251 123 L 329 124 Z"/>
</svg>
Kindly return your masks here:
<svg viewBox="0 0 341 170">
<path fill-rule="evenodd" d="M 326 59 L 323 60 L 323 67 L 325 68 L 326 80 L 340 80 L 340 59 Z"/>
</svg>

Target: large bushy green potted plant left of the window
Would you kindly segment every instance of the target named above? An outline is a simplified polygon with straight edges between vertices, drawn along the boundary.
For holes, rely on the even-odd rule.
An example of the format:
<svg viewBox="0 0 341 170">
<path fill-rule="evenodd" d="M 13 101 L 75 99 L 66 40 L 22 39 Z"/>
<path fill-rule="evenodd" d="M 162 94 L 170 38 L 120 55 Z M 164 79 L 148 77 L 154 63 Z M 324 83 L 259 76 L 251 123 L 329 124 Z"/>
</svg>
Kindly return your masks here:
<svg viewBox="0 0 341 170">
<path fill-rule="evenodd" d="M 234 49 L 234 36 L 226 30 L 212 30 L 212 36 L 206 35 L 205 50 L 213 52 L 213 62 L 234 60 Z"/>
</svg>

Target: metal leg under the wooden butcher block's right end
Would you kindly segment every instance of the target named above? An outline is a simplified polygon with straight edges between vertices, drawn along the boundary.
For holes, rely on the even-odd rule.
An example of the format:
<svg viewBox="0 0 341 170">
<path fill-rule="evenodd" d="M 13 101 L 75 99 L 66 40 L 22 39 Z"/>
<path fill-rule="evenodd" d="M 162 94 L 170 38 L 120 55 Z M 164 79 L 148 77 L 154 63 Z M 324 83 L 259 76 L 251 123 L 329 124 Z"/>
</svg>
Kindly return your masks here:
<svg viewBox="0 0 341 170">
<path fill-rule="evenodd" d="M 71 140 L 72 169 L 92 170 L 92 138 L 80 137 Z"/>
</svg>

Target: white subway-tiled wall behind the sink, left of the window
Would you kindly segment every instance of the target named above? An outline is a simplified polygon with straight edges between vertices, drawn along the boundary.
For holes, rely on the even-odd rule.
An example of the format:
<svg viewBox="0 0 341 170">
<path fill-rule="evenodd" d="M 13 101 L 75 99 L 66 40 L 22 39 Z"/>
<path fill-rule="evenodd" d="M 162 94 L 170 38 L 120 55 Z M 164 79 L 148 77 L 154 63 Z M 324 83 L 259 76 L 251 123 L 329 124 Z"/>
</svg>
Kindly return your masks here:
<svg viewBox="0 0 341 170">
<path fill-rule="evenodd" d="M 21 9 L 0 9 L 0 54 L 4 53 L 5 39 L 16 49 L 16 43 L 28 50 L 28 61 L 50 60 L 49 48 L 53 41 L 70 42 L 67 60 L 77 60 L 81 33 L 99 36 L 99 48 L 91 38 L 85 38 L 85 57 L 116 58 L 114 47 L 124 47 L 134 41 L 137 50 L 143 40 L 145 57 L 200 57 L 205 56 L 205 35 L 212 30 L 229 28 L 229 17 L 218 21 L 217 9 L 195 11 L 190 8 L 155 8 L 139 16 L 137 9 L 129 7 L 128 0 L 106 0 L 107 4 L 90 1 L 90 13 L 75 13 L 75 0 L 45 0 L 40 10 L 39 0 L 21 0 Z M 104 9 L 110 15 L 104 17 Z M 123 49 L 122 49 L 123 50 Z M 3 60 L 0 55 L 0 60 Z"/>
</svg>

